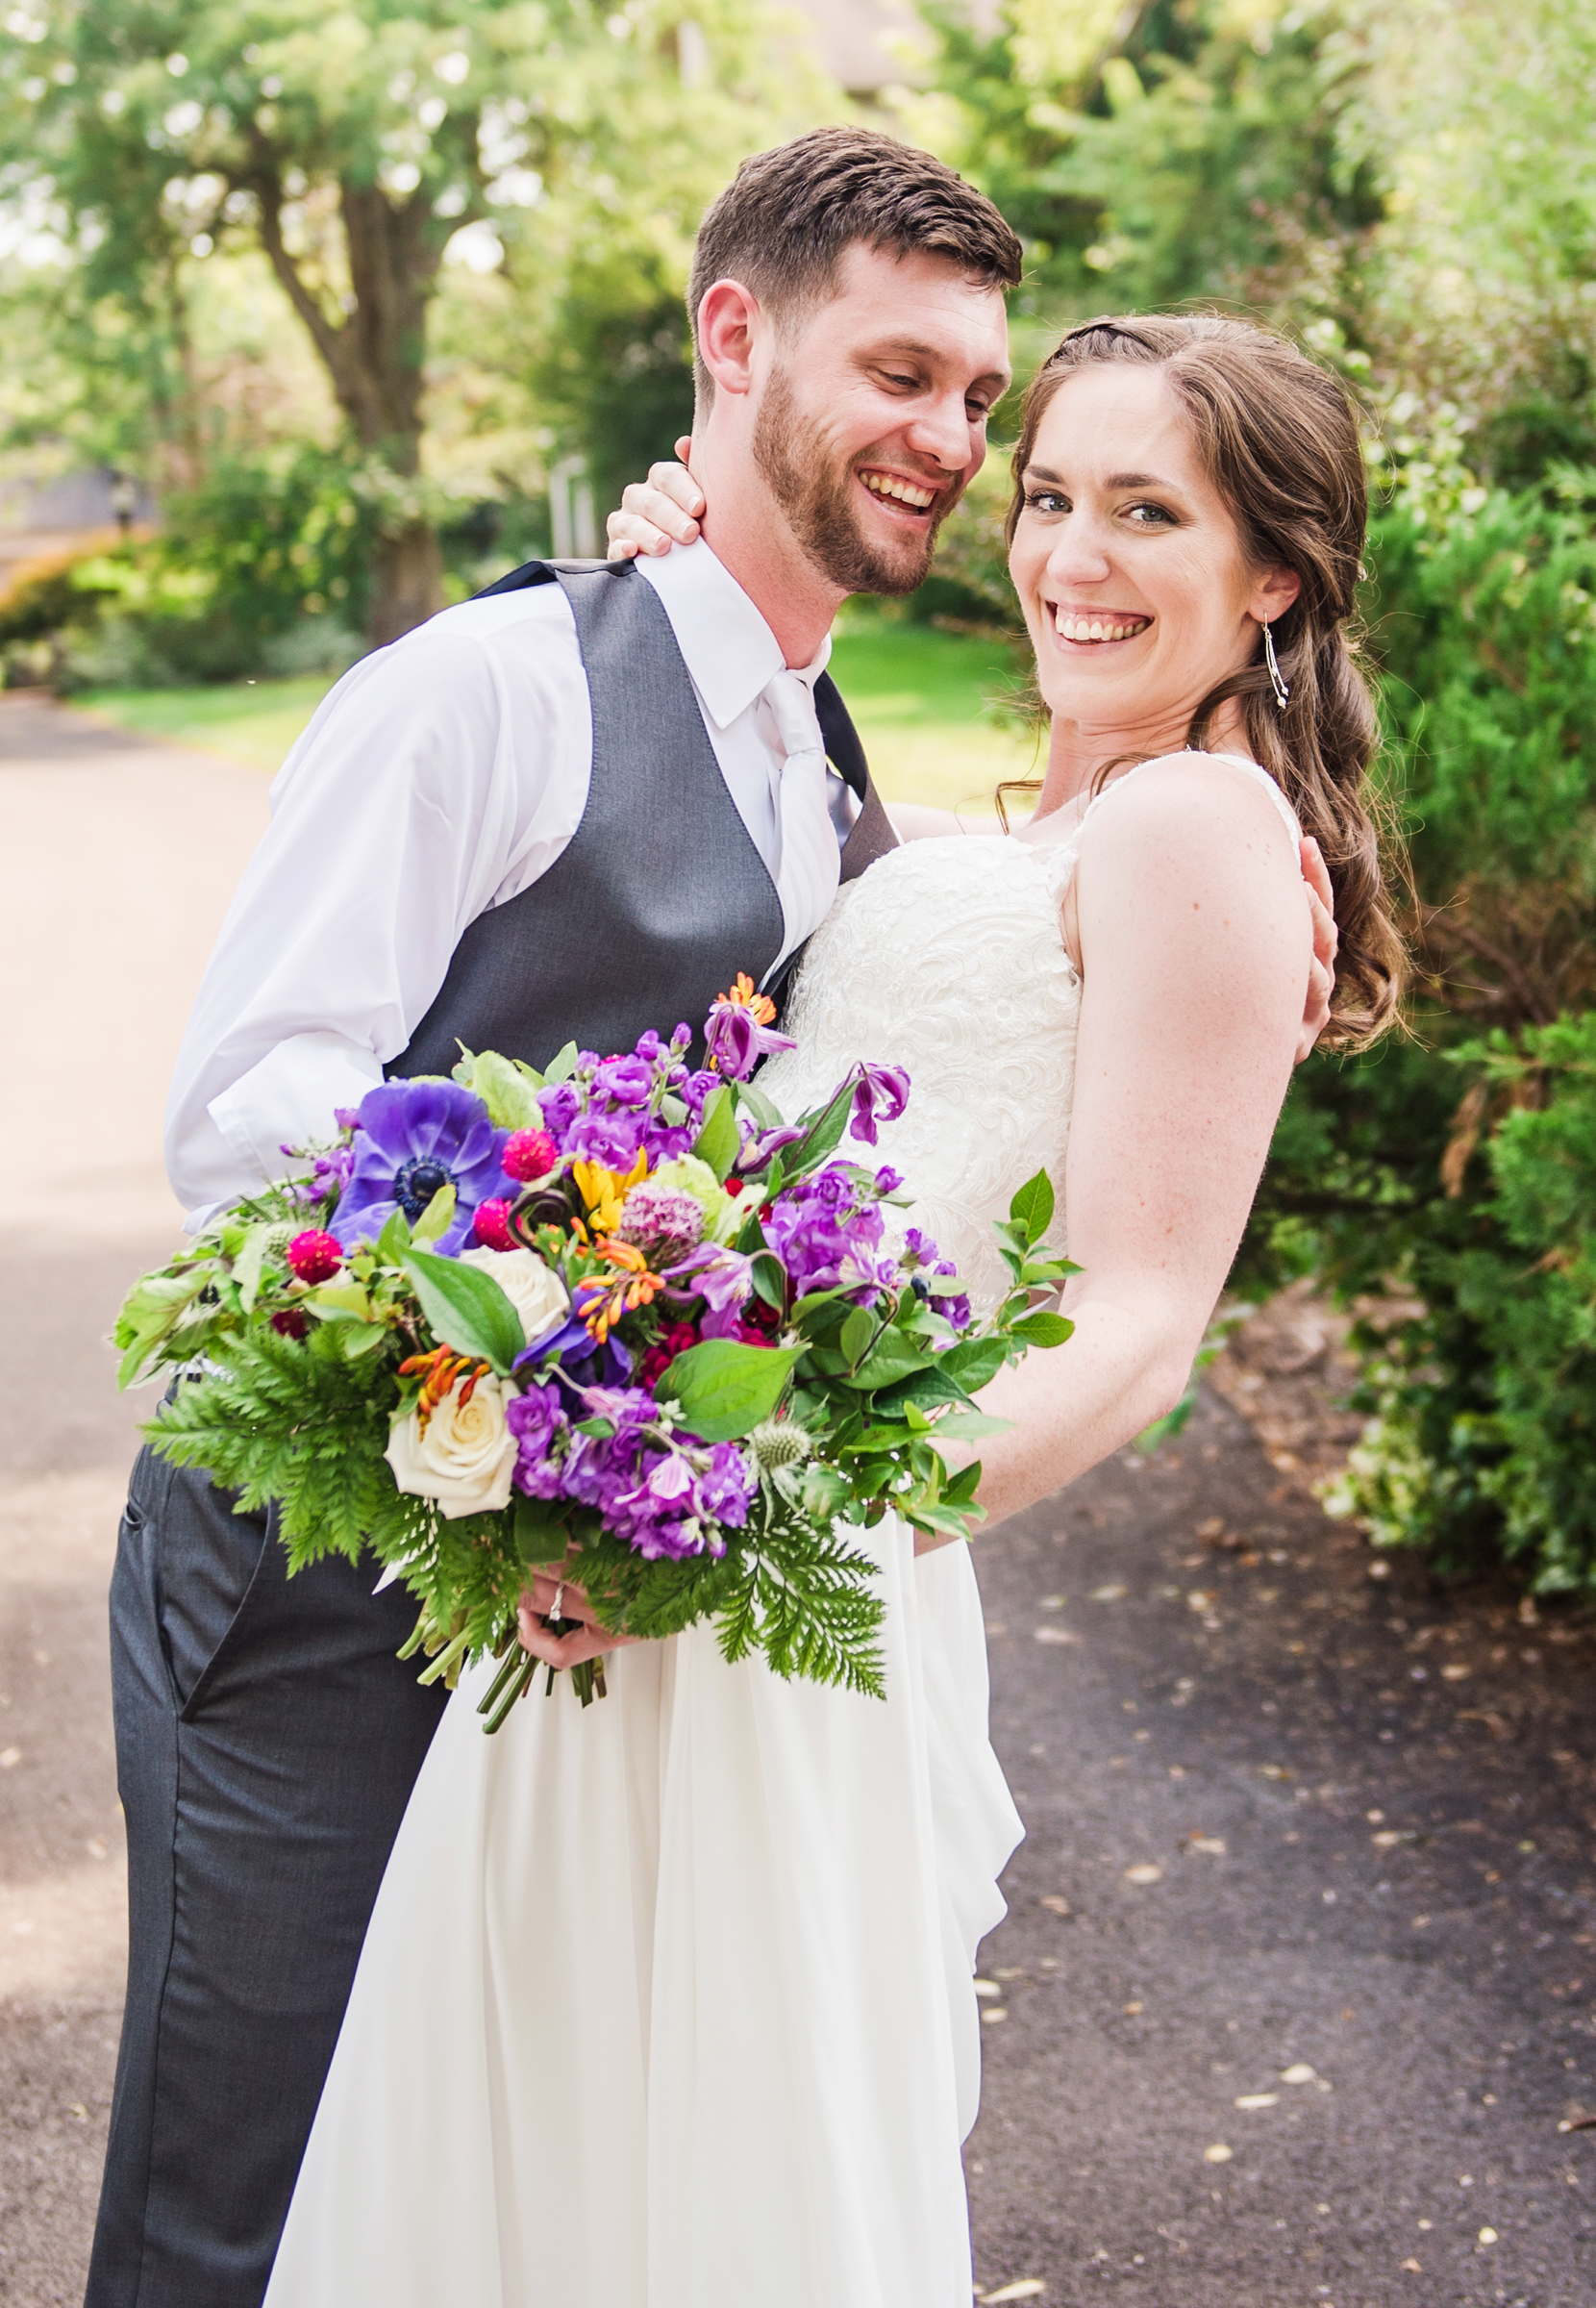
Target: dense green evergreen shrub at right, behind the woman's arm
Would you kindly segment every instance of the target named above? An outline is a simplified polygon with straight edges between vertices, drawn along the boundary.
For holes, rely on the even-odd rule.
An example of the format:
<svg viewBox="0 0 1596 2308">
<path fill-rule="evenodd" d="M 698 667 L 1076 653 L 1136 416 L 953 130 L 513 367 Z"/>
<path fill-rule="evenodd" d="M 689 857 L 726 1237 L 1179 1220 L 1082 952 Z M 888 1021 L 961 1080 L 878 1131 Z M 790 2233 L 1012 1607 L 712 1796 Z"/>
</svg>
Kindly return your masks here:
<svg viewBox="0 0 1596 2308">
<path fill-rule="evenodd" d="M 1409 492 L 1370 563 L 1414 1032 L 1303 1069 L 1236 1286 L 1368 1302 L 1382 1544 L 1596 1590 L 1596 473 Z"/>
</svg>

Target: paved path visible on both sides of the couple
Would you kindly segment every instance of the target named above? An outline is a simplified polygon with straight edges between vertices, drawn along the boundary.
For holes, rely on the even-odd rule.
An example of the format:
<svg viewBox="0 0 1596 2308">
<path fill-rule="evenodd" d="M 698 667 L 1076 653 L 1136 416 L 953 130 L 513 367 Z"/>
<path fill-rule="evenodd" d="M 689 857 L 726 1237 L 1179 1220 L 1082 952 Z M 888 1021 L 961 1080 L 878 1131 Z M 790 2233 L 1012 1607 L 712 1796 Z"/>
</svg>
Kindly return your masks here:
<svg viewBox="0 0 1596 2308">
<path fill-rule="evenodd" d="M 143 1410 L 99 1341 L 173 1235 L 166 1071 L 263 817 L 251 771 L 0 702 L 5 2308 L 81 2296 L 122 1966 L 104 1586 Z M 1591 1639 L 1370 1579 L 1213 1399 L 980 1565 L 1029 1826 L 983 1955 L 985 2296 L 1584 2308 Z"/>
</svg>

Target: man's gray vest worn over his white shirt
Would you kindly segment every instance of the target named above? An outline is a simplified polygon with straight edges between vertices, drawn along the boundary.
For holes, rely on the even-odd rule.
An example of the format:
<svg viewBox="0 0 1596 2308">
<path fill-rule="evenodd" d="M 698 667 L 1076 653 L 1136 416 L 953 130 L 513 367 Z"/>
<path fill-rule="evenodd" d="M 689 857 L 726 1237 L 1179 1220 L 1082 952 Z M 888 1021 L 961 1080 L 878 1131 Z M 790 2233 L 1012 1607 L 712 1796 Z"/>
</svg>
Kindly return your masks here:
<svg viewBox="0 0 1596 2308">
<path fill-rule="evenodd" d="M 468 1050 L 547 1066 L 574 1041 L 609 1055 L 703 1018 L 738 969 L 782 951 L 782 902 L 727 792 L 671 621 L 630 561 L 530 561 L 491 593 L 560 584 L 593 697 L 593 778 L 570 845 L 530 889 L 480 914 L 408 1050 L 387 1073 L 447 1073 Z M 819 692 L 828 690 L 828 697 Z M 863 801 L 846 879 L 895 833 L 835 688 L 816 685 L 826 750 Z"/>
</svg>

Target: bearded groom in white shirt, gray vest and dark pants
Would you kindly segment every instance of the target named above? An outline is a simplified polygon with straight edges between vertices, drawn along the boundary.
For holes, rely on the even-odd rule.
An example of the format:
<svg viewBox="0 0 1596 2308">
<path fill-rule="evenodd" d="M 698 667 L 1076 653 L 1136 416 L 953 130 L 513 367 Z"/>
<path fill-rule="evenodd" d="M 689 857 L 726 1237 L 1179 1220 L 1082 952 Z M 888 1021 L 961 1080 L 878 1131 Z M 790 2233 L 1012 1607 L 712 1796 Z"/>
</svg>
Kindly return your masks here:
<svg viewBox="0 0 1596 2308">
<path fill-rule="evenodd" d="M 708 542 L 517 570 L 357 665 L 272 789 L 201 986 L 168 1170 L 203 1219 L 457 1041 L 547 1062 L 775 981 L 895 835 L 826 674 L 985 455 L 1022 249 L 950 168 L 823 129 L 743 166 L 692 275 Z M 143 1452 L 111 1586 L 129 1978 L 88 2308 L 256 2308 L 445 1703 L 376 1565 Z"/>
</svg>

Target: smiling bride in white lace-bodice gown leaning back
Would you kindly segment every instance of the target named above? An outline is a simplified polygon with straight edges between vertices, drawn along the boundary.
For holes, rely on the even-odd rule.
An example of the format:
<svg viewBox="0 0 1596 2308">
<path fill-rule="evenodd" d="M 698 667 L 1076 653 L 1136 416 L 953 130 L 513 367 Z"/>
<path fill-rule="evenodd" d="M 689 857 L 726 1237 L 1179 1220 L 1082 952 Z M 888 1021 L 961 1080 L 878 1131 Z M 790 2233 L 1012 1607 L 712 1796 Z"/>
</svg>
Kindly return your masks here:
<svg viewBox="0 0 1596 2308">
<path fill-rule="evenodd" d="M 655 478 L 616 533 L 662 552 L 701 499 Z M 1303 833 L 1335 884 L 1333 1032 L 1391 1016 L 1347 644 L 1363 524 L 1347 402 L 1287 344 L 1072 330 L 1026 392 L 1008 524 L 1052 715 L 1036 815 L 971 838 L 895 812 L 904 845 L 842 889 L 798 1048 L 761 1073 L 796 1112 L 858 1059 L 909 1069 L 879 1159 L 976 1292 L 1012 1189 L 1042 1163 L 1061 1186 L 1075 1339 L 983 1399 L 1012 1419 L 987 1530 L 1185 1385 L 1296 1050 Z M 537 1579 L 524 1641 L 613 1650 L 609 1699 L 560 1685 L 496 1738 L 477 1683 L 452 1701 L 270 2308 L 966 2308 L 971 1973 L 1022 1828 L 969 1549 L 872 1537 L 886 1703 L 727 1666 L 708 1625 L 556 1639 Z"/>
</svg>

